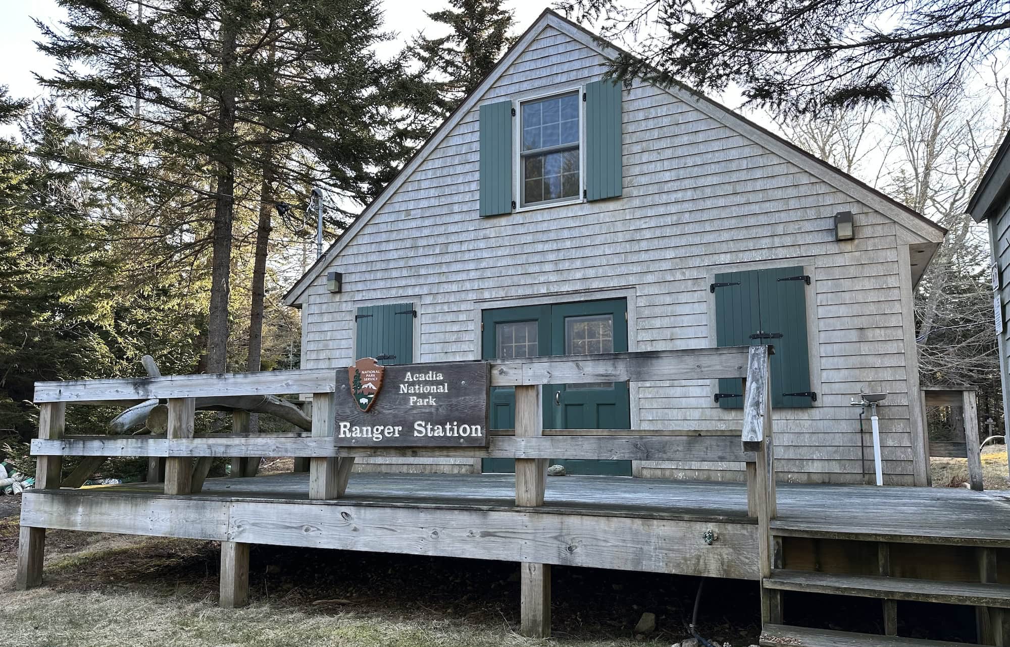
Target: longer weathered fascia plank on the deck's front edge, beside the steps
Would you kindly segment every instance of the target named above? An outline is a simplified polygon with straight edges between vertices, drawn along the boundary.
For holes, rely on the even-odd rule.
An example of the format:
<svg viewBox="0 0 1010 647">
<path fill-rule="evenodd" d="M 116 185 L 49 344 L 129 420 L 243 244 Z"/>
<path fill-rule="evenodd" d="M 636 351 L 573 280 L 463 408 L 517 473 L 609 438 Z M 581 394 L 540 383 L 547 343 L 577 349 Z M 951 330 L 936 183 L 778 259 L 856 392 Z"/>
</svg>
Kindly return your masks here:
<svg viewBox="0 0 1010 647">
<path fill-rule="evenodd" d="M 754 527 L 535 511 L 235 501 L 227 539 L 758 578 Z M 711 546 L 706 530 L 719 535 Z M 628 550 L 648 546 L 648 550 Z"/>
</svg>

